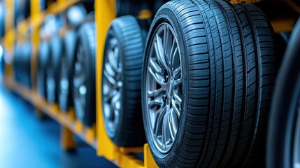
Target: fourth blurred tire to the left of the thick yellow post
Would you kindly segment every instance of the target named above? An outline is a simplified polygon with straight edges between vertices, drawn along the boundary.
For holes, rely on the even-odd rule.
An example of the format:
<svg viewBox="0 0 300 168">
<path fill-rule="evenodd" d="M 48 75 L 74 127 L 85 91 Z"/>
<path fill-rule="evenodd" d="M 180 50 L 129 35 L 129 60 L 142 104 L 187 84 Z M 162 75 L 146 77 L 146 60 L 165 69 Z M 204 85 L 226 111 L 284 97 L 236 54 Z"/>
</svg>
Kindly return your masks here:
<svg viewBox="0 0 300 168">
<path fill-rule="evenodd" d="M 38 74 L 37 74 L 37 90 L 38 94 L 46 98 L 46 71 L 47 71 L 47 64 L 49 62 L 50 56 L 50 45 L 48 41 L 41 41 L 40 45 L 38 46 Z"/>
</svg>

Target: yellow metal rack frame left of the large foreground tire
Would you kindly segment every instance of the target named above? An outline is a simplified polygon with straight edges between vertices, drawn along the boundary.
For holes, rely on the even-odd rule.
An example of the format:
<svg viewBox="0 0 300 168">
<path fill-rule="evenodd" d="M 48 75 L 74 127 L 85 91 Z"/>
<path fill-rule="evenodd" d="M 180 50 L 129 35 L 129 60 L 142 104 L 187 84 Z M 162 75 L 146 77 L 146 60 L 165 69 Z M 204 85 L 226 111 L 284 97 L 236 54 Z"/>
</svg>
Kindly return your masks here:
<svg viewBox="0 0 300 168">
<path fill-rule="evenodd" d="M 5 0 L 6 4 L 6 34 L 3 38 L 3 45 L 6 59 L 6 74 L 4 84 L 21 97 L 36 107 L 38 113 L 45 113 L 60 125 L 61 146 L 68 150 L 76 147 L 73 134 L 78 135 L 87 144 L 97 151 L 97 155 L 103 156 L 120 167 L 157 167 L 150 153 L 148 144 L 142 148 L 123 148 L 113 144 L 105 132 L 102 109 L 101 109 L 101 89 L 97 87 L 97 122 L 94 127 L 85 127 L 76 119 L 73 108 L 68 112 L 60 111 L 57 104 L 48 104 L 48 102 L 39 97 L 36 92 L 36 72 L 37 72 L 37 55 L 38 44 L 40 42 L 39 30 L 46 15 L 58 14 L 66 10 L 80 0 L 57 0 L 48 6 L 48 10 L 42 11 L 39 7 L 39 0 L 31 0 L 31 16 L 27 20 L 21 22 L 16 29 L 13 28 L 14 18 L 14 1 Z M 95 1 L 95 22 L 97 27 L 97 85 L 101 83 L 101 66 L 103 59 L 103 46 L 105 43 L 106 32 L 110 22 L 115 18 L 115 0 L 99 0 Z M 27 29 L 31 29 L 30 36 L 26 36 Z M 64 29 L 64 28 L 62 28 Z M 20 85 L 13 79 L 13 55 L 14 43 L 16 41 L 31 40 L 31 81 L 32 90 Z M 2 41 L 2 39 L 1 39 Z M 144 153 L 144 161 L 131 155 L 132 153 Z"/>
</svg>

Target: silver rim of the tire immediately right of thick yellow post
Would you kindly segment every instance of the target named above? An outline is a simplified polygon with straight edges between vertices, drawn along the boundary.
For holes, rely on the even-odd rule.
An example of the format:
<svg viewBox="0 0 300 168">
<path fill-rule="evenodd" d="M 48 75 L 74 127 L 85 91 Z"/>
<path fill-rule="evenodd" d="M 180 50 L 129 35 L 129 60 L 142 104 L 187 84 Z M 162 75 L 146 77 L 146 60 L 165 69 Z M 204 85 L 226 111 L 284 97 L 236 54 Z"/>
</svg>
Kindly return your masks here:
<svg viewBox="0 0 300 168">
<path fill-rule="evenodd" d="M 110 38 L 103 64 L 103 114 L 108 135 L 113 137 L 119 124 L 122 102 L 122 62 L 117 38 Z"/>
</svg>

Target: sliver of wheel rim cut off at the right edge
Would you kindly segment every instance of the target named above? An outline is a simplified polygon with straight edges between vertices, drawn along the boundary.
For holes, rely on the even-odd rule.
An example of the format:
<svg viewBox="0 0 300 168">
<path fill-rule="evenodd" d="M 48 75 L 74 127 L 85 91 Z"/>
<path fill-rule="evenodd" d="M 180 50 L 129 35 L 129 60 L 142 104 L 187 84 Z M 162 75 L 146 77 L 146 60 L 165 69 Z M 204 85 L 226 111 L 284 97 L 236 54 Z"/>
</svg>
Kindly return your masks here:
<svg viewBox="0 0 300 168">
<path fill-rule="evenodd" d="M 297 121 L 294 130 L 294 146 L 292 146 L 294 168 L 300 168 L 300 99 L 297 102 Z"/>
</svg>

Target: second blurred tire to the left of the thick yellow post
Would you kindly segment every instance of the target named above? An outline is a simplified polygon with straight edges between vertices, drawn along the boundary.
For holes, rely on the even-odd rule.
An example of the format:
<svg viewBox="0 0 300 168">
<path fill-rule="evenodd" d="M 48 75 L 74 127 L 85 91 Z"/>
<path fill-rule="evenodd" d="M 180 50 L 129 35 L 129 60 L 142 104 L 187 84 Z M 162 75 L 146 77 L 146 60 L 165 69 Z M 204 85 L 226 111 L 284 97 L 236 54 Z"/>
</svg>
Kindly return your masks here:
<svg viewBox="0 0 300 168">
<path fill-rule="evenodd" d="M 69 111 L 70 106 L 73 106 L 71 83 L 74 55 L 76 52 L 76 39 L 76 31 L 69 30 L 66 32 L 66 35 L 64 36 L 62 57 L 60 57 L 59 61 L 59 108 L 65 112 Z"/>
</svg>

